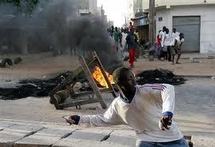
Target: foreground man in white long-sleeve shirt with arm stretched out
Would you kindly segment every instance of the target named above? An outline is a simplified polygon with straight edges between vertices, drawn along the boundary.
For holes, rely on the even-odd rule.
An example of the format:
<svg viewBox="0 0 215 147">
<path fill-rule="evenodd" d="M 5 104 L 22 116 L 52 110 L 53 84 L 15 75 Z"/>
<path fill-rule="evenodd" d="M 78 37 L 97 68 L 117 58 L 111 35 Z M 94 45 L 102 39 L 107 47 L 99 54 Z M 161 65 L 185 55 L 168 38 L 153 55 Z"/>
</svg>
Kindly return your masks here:
<svg viewBox="0 0 215 147">
<path fill-rule="evenodd" d="M 175 91 L 168 84 L 137 85 L 128 68 L 114 71 L 120 94 L 101 115 L 72 115 L 70 124 L 126 124 L 137 134 L 137 147 L 188 147 L 173 118 Z"/>
</svg>

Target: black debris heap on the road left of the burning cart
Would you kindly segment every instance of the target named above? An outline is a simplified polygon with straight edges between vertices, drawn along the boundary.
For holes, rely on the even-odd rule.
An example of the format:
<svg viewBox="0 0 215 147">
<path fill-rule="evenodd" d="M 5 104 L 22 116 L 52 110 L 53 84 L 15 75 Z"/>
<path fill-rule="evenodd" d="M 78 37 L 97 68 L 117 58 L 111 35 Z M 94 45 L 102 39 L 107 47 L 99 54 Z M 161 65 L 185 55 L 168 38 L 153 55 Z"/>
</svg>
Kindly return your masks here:
<svg viewBox="0 0 215 147">
<path fill-rule="evenodd" d="M 4 100 L 15 100 L 20 98 L 25 98 L 28 96 L 34 97 L 44 97 L 48 96 L 49 92 L 61 84 L 67 77 L 72 75 L 72 72 L 65 72 L 59 74 L 58 76 L 50 79 L 40 80 L 22 80 L 17 83 L 17 86 L 11 85 L 10 87 L 3 88 L 0 87 L 0 99 Z M 84 81 L 83 77 L 81 78 Z"/>
</svg>

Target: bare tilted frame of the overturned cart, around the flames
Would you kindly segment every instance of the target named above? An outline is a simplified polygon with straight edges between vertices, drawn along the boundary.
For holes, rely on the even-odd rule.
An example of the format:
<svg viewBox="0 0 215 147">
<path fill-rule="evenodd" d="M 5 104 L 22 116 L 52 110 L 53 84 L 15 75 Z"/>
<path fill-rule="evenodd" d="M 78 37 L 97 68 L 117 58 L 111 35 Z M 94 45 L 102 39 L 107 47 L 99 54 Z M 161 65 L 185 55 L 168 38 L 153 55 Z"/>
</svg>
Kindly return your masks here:
<svg viewBox="0 0 215 147">
<path fill-rule="evenodd" d="M 81 67 L 78 68 L 75 76 L 77 76 L 81 72 L 84 72 L 93 91 L 86 91 L 83 93 L 78 93 L 78 94 L 73 94 L 73 95 L 70 94 L 69 97 L 72 97 L 72 98 L 66 98 L 66 100 L 63 103 L 58 103 L 58 100 L 54 100 L 55 101 L 54 105 L 55 105 L 56 109 L 63 109 L 66 107 L 74 107 L 74 106 L 76 106 L 77 109 L 78 108 L 80 109 L 81 105 L 97 103 L 97 102 L 99 102 L 101 104 L 101 107 L 103 109 L 106 109 L 107 105 L 105 104 L 105 102 L 102 98 L 101 92 L 111 92 L 113 97 L 116 97 L 116 92 L 105 73 L 105 69 L 104 69 L 98 55 L 96 54 L 95 51 L 92 53 L 92 55 L 93 55 L 93 58 L 88 63 L 86 62 L 86 60 L 83 56 L 79 56 L 79 63 L 81 64 Z M 95 63 L 101 69 L 101 72 L 102 72 L 109 88 L 105 88 L 105 89 L 98 88 L 98 86 L 92 76 L 91 70 L 90 70 L 90 66 L 93 63 Z M 69 81 L 67 84 L 71 84 L 71 83 L 73 83 L 72 80 Z M 59 91 L 59 89 L 55 90 L 52 93 L 52 95 L 50 96 L 51 97 L 50 100 L 55 99 L 54 94 L 56 94 L 58 91 Z"/>
</svg>

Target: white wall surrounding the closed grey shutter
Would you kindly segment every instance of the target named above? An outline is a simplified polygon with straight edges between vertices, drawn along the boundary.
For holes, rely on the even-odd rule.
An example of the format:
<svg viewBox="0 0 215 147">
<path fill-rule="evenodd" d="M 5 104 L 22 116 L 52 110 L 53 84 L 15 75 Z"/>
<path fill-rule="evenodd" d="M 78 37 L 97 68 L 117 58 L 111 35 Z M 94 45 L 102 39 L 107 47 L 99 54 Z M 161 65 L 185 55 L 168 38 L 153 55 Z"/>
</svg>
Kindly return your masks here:
<svg viewBox="0 0 215 147">
<path fill-rule="evenodd" d="M 200 53 L 215 53 L 215 5 L 177 6 L 157 10 L 157 32 L 163 26 L 172 30 L 173 16 L 200 16 Z M 163 21 L 159 22 L 158 17 L 163 17 Z"/>
</svg>

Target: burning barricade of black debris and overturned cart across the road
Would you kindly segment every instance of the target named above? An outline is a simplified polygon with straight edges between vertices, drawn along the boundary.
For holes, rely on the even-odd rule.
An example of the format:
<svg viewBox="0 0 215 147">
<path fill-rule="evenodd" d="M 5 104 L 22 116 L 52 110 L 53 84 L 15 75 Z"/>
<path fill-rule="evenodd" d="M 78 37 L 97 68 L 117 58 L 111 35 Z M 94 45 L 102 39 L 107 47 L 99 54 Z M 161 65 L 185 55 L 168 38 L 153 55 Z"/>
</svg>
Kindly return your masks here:
<svg viewBox="0 0 215 147">
<path fill-rule="evenodd" d="M 50 103 L 56 109 L 80 108 L 81 105 L 98 102 L 102 108 L 106 108 L 102 94 L 111 93 L 113 98 L 116 97 L 117 87 L 113 83 L 112 75 L 104 70 L 95 52 L 91 60 L 80 56 L 79 61 L 81 66 L 76 70 L 64 72 L 53 78 L 22 80 L 16 85 L 0 87 L 0 99 L 49 96 Z M 179 85 L 185 82 L 184 78 L 165 69 L 142 71 L 136 75 L 136 80 L 141 85 L 146 83 Z"/>
</svg>

